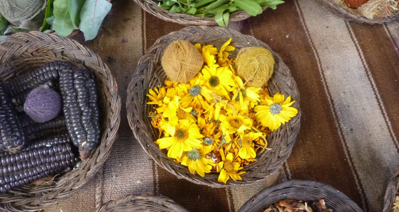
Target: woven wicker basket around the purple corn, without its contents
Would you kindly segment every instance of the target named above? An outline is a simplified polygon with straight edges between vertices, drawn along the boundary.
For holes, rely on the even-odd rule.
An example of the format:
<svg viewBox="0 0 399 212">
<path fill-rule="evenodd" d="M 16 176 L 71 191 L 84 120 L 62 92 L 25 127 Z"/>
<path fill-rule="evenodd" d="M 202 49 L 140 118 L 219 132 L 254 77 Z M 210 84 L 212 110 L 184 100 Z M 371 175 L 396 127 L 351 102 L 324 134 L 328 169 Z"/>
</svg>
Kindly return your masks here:
<svg viewBox="0 0 399 212">
<path fill-rule="evenodd" d="M 0 194 L 2 211 L 36 211 L 69 198 L 102 168 L 115 141 L 120 123 L 117 82 L 97 54 L 74 40 L 42 32 L 16 33 L 0 40 L 0 77 L 4 81 L 54 60 L 71 62 L 95 73 L 103 132 L 101 141 L 87 161 L 55 178 L 56 183 L 51 186 L 28 184 Z"/>
</svg>

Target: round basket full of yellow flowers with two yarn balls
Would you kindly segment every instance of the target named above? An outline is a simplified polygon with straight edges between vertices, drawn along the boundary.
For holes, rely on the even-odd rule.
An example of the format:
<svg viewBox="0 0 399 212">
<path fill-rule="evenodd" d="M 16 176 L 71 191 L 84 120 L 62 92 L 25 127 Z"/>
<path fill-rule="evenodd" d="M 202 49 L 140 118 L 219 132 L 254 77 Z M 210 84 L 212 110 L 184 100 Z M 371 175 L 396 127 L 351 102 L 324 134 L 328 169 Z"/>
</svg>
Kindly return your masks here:
<svg viewBox="0 0 399 212">
<path fill-rule="evenodd" d="M 296 82 L 252 36 L 191 26 L 159 38 L 127 90 L 134 136 L 178 178 L 211 187 L 264 180 L 290 156 L 300 127 Z"/>
</svg>

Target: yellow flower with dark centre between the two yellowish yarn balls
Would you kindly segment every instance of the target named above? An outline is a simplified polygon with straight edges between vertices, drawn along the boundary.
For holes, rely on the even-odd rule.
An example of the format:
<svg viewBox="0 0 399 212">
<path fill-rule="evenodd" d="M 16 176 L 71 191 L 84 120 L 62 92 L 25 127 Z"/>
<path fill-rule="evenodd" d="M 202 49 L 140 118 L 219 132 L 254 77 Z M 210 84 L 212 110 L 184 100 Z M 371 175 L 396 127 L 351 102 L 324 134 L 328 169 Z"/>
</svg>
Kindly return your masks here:
<svg viewBox="0 0 399 212">
<path fill-rule="evenodd" d="M 206 80 L 206 86 L 218 94 L 230 100 L 229 93 L 234 86 L 233 72 L 227 67 L 217 67 L 217 65 L 204 66 L 202 74 Z"/>
</svg>

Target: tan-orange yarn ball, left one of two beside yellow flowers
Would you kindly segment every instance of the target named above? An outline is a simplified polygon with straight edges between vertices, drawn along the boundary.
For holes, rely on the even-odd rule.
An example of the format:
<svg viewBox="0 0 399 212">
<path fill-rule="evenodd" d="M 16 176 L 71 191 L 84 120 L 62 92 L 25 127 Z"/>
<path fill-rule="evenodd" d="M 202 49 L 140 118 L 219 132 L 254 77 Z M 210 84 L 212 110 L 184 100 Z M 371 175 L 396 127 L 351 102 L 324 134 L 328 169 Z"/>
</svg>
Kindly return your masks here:
<svg viewBox="0 0 399 212">
<path fill-rule="evenodd" d="M 166 47 L 161 64 L 171 80 L 186 83 L 202 69 L 203 59 L 193 44 L 177 40 Z"/>
</svg>

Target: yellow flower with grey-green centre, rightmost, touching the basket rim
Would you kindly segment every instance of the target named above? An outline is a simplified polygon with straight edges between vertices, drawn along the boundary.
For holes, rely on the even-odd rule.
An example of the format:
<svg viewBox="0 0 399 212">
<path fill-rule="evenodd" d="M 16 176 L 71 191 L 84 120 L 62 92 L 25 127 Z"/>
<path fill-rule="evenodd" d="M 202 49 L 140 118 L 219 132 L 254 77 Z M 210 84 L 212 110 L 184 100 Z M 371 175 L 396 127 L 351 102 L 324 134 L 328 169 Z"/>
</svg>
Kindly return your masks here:
<svg viewBox="0 0 399 212">
<path fill-rule="evenodd" d="M 266 96 L 262 101 L 265 105 L 255 107 L 256 120 L 270 130 L 277 130 L 281 124 L 285 124 L 298 113 L 296 108 L 290 107 L 294 102 L 291 102 L 291 96 L 284 100 L 284 95 L 280 93 L 275 94 L 273 98 Z"/>
</svg>

